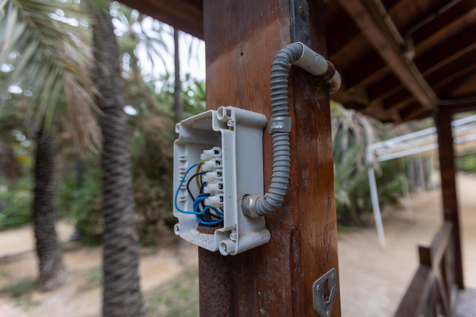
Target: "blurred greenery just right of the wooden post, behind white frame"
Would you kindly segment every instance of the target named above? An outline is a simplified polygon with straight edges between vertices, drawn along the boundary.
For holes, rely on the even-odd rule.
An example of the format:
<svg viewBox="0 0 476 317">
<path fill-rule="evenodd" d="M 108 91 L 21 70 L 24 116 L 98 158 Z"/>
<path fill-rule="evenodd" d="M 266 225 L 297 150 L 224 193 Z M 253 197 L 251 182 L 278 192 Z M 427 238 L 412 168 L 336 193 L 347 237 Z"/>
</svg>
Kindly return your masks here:
<svg viewBox="0 0 476 317">
<path fill-rule="evenodd" d="M 372 212 L 365 147 L 395 137 L 391 126 L 331 102 L 332 147 L 337 221 L 343 225 L 365 225 Z M 403 159 L 372 163 L 377 175 L 380 207 L 397 203 L 408 186 Z"/>
</svg>

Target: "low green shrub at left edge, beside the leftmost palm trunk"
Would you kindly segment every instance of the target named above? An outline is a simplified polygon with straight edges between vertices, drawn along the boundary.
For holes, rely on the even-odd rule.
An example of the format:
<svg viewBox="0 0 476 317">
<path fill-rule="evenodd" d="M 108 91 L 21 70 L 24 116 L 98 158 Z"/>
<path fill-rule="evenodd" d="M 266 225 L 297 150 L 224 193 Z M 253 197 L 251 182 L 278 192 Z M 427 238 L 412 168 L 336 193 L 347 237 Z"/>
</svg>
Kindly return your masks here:
<svg viewBox="0 0 476 317">
<path fill-rule="evenodd" d="M 33 182 L 30 176 L 0 185 L 0 229 L 19 227 L 32 220 Z"/>
</svg>

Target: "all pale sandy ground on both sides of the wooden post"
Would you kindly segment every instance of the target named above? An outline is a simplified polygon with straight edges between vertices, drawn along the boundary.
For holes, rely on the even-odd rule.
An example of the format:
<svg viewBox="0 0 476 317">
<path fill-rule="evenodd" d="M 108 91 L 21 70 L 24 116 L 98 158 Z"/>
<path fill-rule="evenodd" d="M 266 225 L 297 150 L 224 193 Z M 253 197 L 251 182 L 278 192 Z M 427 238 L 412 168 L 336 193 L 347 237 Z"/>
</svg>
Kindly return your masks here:
<svg viewBox="0 0 476 317">
<path fill-rule="evenodd" d="M 465 281 L 476 287 L 476 177 L 458 175 L 457 185 Z M 417 268 L 417 244 L 427 245 L 442 222 L 439 190 L 412 194 L 411 206 L 411 215 L 403 206 L 384 211 L 386 250 L 378 246 L 373 227 L 339 233 L 342 316 L 393 316 Z M 63 222 L 59 222 L 57 230 L 62 240 L 72 232 Z M 0 232 L 0 258 L 1 254 L 31 249 L 33 243 L 29 226 Z M 33 291 L 28 297 L 12 298 L 0 292 L 0 317 L 99 316 L 101 259 L 98 247 L 66 251 L 64 261 L 71 272 L 71 282 L 48 293 Z M 34 280 L 37 265 L 34 252 L 10 262 L 0 261 L 0 289 L 22 278 Z M 141 249 L 139 274 L 144 297 L 150 297 L 159 286 L 172 285 L 190 267 L 197 267 L 197 249 L 181 239 L 167 247 Z"/>
</svg>

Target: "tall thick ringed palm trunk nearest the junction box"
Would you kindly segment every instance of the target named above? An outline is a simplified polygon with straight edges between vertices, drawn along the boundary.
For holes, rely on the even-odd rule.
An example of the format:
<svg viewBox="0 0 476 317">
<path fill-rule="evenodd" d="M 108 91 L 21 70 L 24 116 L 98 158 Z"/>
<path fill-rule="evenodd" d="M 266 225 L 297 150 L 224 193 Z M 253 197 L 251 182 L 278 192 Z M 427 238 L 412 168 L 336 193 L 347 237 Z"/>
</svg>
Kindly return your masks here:
<svg viewBox="0 0 476 317">
<path fill-rule="evenodd" d="M 123 111 L 123 82 L 119 52 L 109 15 L 93 17 L 96 85 L 104 115 L 99 125 L 104 138 L 101 159 L 104 214 L 103 316 L 144 316 L 139 285 L 138 234 L 134 224 L 134 197 L 129 131 Z"/>
</svg>

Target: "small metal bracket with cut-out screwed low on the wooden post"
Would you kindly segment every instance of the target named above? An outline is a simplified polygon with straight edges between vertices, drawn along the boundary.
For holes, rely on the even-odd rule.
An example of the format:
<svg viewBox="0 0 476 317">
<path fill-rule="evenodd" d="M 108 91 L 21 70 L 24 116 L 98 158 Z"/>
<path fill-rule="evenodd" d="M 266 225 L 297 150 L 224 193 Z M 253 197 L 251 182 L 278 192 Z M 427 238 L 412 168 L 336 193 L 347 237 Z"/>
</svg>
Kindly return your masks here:
<svg viewBox="0 0 476 317">
<path fill-rule="evenodd" d="M 324 284 L 327 281 L 328 294 L 324 294 Z M 337 294 L 337 271 L 336 268 L 331 268 L 326 274 L 319 277 L 312 285 L 312 297 L 314 310 L 320 317 L 330 317 L 332 307 L 334 306 L 334 299 Z"/>
</svg>

